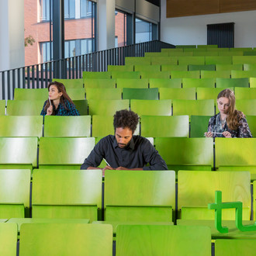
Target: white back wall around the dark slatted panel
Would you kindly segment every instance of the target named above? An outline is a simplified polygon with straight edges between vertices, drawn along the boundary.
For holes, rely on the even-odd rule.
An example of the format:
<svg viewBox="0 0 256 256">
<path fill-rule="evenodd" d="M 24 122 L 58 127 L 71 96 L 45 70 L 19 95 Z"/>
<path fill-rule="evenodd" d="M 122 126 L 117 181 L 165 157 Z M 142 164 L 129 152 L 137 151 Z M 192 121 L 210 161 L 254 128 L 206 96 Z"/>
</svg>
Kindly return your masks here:
<svg viewBox="0 0 256 256">
<path fill-rule="evenodd" d="M 166 0 L 161 0 L 161 41 L 207 44 L 207 24 L 234 22 L 234 47 L 256 47 L 256 11 L 228 12 L 166 19 Z"/>
</svg>

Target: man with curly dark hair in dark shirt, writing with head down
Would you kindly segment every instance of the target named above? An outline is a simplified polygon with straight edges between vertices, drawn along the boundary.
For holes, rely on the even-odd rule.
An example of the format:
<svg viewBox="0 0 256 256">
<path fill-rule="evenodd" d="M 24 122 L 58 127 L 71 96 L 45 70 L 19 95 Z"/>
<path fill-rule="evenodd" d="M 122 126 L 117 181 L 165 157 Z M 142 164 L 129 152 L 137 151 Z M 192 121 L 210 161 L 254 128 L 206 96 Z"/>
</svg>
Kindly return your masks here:
<svg viewBox="0 0 256 256">
<path fill-rule="evenodd" d="M 163 158 L 150 141 L 133 135 L 139 116 L 130 110 L 116 111 L 114 115 L 115 136 L 108 135 L 95 145 L 85 159 L 81 169 L 98 169 L 102 159 L 106 161 L 105 170 L 167 170 Z"/>
</svg>

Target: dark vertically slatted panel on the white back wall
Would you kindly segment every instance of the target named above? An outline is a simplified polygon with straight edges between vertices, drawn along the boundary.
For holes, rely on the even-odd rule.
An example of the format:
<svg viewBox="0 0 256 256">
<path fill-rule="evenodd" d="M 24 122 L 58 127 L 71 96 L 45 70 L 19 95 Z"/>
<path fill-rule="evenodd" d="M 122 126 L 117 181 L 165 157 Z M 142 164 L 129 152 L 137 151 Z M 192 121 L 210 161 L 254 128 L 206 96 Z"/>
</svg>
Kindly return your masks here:
<svg viewBox="0 0 256 256">
<path fill-rule="evenodd" d="M 207 44 L 234 47 L 234 22 L 207 25 Z"/>
</svg>

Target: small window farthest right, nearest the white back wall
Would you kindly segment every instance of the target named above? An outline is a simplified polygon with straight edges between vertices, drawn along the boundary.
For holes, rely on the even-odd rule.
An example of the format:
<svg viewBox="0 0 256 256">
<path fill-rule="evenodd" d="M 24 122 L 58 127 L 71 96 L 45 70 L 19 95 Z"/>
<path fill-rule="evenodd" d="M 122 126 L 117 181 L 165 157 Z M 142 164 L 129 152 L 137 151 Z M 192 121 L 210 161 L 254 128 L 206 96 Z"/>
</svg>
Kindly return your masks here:
<svg viewBox="0 0 256 256">
<path fill-rule="evenodd" d="M 152 23 L 141 19 L 135 20 L 135 43 L 143 43 L 152 40 Z"/>
</svg>

